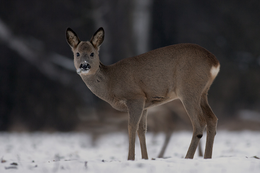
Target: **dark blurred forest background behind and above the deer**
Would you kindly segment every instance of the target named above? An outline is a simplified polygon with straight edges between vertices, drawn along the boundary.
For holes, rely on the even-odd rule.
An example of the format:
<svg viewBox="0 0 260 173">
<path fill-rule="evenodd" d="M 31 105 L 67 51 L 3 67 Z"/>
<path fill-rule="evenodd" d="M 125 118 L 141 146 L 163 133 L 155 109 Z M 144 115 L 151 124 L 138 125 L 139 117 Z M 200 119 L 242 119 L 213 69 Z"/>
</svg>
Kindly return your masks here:
<svg viewBox="0 0 260 173">
<path fill-rule="evenodd" d="M 220 126 L 260 122 L 260 1 L 11 0 L 0 6 L 1 131 L 102 131 L 116 128 L 112 121 L 127 129 L 127 114 L 92 94 L 76 73 L 67 27 L 83 41 L 103 27 L 105 65 L 198 44 L 221 64 L 208 96 Z"/>
</svg>

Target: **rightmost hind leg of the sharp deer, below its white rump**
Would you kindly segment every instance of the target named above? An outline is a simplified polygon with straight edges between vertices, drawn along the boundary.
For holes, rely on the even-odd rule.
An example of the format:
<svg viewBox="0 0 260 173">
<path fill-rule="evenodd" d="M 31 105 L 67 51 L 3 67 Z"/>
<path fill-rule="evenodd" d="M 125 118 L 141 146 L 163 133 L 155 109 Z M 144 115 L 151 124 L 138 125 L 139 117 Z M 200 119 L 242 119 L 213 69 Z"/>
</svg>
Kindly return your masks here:
<svg viewBox="0 0 260 173">
<path fill-rule="evenodd" d="M 205 148 L 204 159 L 211 159 L 213 142 L 214 142 L 214 138 L 216 135 L 217 117 L 212 112 L 212 110 L 208 104 L 207 92 L 204 92 L 202 94 L 200 105 L 202 108 L 203 116 L 207 122 L 207 139 L 206 139 L 206 148 Z"/>
</svg>

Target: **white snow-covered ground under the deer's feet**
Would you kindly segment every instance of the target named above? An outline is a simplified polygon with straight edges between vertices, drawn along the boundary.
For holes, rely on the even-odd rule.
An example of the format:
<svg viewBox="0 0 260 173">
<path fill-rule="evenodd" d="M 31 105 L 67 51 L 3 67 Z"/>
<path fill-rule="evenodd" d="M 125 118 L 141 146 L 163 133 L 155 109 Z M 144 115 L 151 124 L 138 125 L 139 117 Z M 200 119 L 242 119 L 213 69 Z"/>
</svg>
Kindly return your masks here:
<svg viewBox="0 0 260 173">
<path fill-rule="evenodd" d="M 194 159 L 183 159 L 191 132 L 172 135 L 165 152 L 167 159 L 156 158 L 164 135 L 146 136 L 149 160 L 141 159 L 136 140 L 136 160 L 127 161 L 125 133 L 105 134 L 97 139 L 96 146 L 87 133 L 0 133 L 0 172 L 260 172 L 260 132 L 217 131 L 212 159 L 203 159 L 197 153 Z M 203 148 L 205 138 L 206 134 L 201 140 Z"/>
</svg>

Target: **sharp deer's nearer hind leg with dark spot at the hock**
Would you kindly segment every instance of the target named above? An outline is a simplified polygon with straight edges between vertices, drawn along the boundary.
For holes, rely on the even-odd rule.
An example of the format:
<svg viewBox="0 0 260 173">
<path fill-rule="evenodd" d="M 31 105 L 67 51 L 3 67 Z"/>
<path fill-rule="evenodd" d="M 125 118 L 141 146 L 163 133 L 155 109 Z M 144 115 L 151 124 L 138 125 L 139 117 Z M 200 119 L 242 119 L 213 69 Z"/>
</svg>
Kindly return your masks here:
<svg viewBox="0 0 260 173">
<path fill-rule="evenodd" d="M 182 99 L 182 103 L 191 119 L 193 126 L 193 134 L 191 144 L 185 159 L 193 159 L 195 151 L 198 147 L 199 141 L 202 138 L 203 131 L 206 127 L 206 121 L 203 117 L 202 109 L 199 106 L 200 98 L 186 98 Z"/>
</svg>

